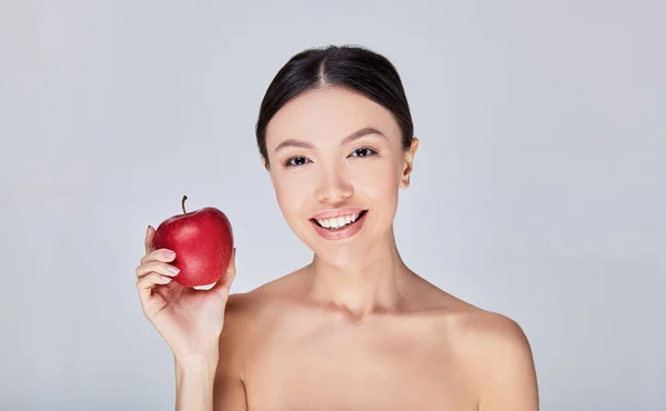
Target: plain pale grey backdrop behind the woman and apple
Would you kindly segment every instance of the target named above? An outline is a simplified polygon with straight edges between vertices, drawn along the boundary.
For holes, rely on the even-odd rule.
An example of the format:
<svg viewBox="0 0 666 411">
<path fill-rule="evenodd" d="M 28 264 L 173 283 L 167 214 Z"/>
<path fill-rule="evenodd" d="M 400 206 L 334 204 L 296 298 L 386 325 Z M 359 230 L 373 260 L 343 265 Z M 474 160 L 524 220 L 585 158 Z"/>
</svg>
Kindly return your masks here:
<svg viewBox="0 0 666 411">
<path fill-rule="evenodd" d="M 233 292 L 311 259 L 254 123 L 296 52 L 398 69 L 421 148 L 406 263 L 516 320 L 543 410 L 666 410 L 660 1 L 1 1 L 0 409 L 169 410 L 143 235 L 213 206 Z"/>
</svg>

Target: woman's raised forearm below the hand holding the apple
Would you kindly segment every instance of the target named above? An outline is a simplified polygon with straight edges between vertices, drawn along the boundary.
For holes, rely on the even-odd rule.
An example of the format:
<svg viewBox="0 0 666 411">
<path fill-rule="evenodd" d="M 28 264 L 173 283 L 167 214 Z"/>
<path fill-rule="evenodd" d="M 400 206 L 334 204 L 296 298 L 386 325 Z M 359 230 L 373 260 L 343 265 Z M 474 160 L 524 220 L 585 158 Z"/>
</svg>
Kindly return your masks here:
<svg viewBox="0 0 666 411">
<path fill-rule="evenodd" d="M 175 411 L 213 411 L 215 355 L 175 360 Z"/>
</svg>

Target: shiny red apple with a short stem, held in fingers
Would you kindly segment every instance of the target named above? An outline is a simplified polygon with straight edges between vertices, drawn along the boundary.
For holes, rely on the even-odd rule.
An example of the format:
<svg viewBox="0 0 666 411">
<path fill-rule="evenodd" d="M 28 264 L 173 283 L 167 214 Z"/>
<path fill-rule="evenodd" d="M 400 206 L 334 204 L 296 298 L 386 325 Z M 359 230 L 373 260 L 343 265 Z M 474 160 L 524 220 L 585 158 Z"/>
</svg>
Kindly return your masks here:
<svg viewBox="0 0 666 411">
<path fill-rule="evenodd" d="M 172 265 L 180 269 L 173 280 L 184 287 L 208 285 L 226 272 L 233 251 L 233 232 L 224 213 L 213 207 L 185 211 L 164 220 L 157 229 L 154 247 L 175 252 Z"/>
</svg>

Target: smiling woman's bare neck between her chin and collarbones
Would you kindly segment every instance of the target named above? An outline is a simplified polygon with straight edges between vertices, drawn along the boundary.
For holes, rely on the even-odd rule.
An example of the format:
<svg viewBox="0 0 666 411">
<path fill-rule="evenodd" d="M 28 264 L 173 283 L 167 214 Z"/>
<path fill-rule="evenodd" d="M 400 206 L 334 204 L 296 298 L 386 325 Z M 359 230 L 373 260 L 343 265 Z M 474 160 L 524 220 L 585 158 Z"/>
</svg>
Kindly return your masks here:
<svg viewBox="0 0 666 411">
<path fill-rule="evenodd" d="M 411 272 L 397 252 L 393 229 L 369 250 L 363 261 L 339 267 L 315 254 L 310 271 L 311 298 L 354 319 L 396 310 L 402 285 Z"/>
</svg>

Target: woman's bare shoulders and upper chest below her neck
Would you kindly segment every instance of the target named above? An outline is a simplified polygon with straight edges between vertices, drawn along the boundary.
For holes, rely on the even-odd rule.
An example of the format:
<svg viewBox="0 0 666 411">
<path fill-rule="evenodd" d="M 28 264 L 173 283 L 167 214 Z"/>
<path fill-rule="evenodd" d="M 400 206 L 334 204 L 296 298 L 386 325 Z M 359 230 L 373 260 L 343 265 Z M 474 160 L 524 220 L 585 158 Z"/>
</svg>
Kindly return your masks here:
<svg viewBox="0 0 666 411">
<path fill-rule="evenodd" d="M 357 317 L 312 300 L 311 270 L 231 295 L 215 410 L 537 410 L 512 320 L 408 270 L 395 307 Z"/>
</svg>

